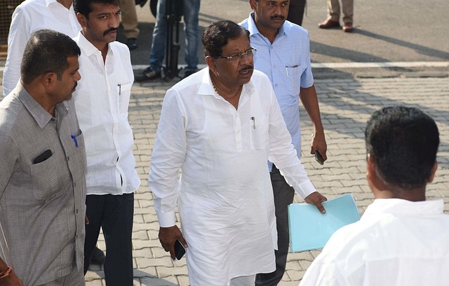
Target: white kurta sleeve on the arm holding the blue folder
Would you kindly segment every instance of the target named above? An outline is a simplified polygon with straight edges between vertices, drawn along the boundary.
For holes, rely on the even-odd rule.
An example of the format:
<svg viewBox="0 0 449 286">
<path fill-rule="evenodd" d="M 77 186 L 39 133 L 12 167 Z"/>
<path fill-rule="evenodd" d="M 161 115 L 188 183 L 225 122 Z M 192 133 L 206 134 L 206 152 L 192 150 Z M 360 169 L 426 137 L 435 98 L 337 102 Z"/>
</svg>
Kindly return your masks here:
<svg viewBox="0 0 449 286">
<path fill-rule="evenodd" d="M 273 162 L 302 199 L 316 192 L 307 177 L 304 165 L 293 148 L 292 138 L 283 120 L 281 108 L 271 88 L 271 109 L 269 114 L 269 161 Z"/>
</svg>

